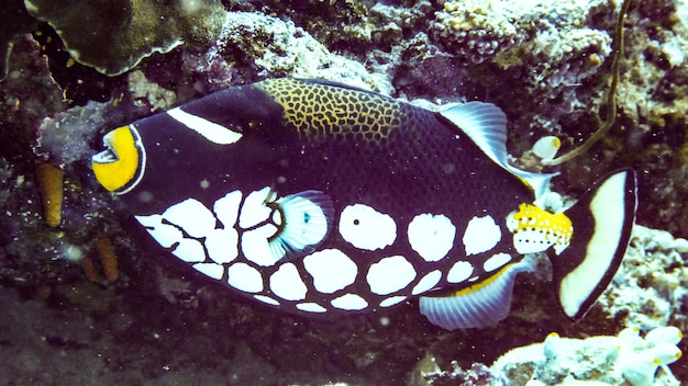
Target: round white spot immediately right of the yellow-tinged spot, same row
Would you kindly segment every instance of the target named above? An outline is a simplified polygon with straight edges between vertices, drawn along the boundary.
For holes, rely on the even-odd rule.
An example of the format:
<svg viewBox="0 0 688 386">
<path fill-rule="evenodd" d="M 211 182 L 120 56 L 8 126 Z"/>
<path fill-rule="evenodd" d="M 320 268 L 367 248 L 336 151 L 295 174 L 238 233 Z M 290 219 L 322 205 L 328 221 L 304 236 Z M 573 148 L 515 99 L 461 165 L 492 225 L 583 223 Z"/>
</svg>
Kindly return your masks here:
<svg viewBox="0 0 688 386">
<path fill-rule="evenodd" d="M 454 246 L 456 227 L 444 215 L 424 213 L 409 224 L 411 248 L 425 261 L 442 260 Z"/>
</svg>

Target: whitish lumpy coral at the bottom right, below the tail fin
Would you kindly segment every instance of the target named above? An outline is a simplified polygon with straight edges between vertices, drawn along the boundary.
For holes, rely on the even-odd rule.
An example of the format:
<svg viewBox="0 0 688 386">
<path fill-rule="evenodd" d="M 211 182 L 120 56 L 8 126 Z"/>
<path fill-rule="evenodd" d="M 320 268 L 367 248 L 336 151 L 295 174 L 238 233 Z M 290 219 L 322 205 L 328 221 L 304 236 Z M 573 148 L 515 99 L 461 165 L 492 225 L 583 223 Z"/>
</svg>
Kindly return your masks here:
<svg viewBox="0 0 688 386">
<path fill-rule="evenodd" d="M 668 367 L 657 372 L 659 365 L 676 362 L 681 352 L 677 328 L 652 330 L 641 339 L 632 328 L 617 337 L 590 337 L 586 339 L 547 336 L 544 342 L 517 348 L 499 357 L 490 367 L 504 374 L 508 385 L 622 385 L 633 386 L 679 385 Z M 670 331 L 668 331 L 670 330 Z M 670 342 L 657 342 L 653 332 L 673 334 Z M 655 377 L 656 374 L 656 377 Z"/>
</svg>

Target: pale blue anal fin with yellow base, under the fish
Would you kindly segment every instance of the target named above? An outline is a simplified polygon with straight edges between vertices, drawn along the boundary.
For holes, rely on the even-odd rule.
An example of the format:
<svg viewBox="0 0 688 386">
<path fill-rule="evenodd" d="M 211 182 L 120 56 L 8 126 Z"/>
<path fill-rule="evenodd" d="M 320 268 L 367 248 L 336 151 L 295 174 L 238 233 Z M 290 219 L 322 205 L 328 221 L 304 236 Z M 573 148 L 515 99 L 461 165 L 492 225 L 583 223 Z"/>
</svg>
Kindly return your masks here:
<svg viewBox="0 0 688 386">
<path fill-rule="evenodd" d="M 421 314 L 447 330 L 482 328 L 497 325 L 509 315 L 515 275 L 532 272 L 535 259 L 526 256 L 480 282 L 444 297 L 421 296 Z"/>
</svg>

